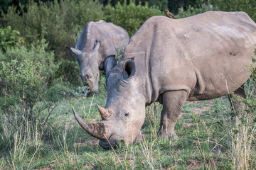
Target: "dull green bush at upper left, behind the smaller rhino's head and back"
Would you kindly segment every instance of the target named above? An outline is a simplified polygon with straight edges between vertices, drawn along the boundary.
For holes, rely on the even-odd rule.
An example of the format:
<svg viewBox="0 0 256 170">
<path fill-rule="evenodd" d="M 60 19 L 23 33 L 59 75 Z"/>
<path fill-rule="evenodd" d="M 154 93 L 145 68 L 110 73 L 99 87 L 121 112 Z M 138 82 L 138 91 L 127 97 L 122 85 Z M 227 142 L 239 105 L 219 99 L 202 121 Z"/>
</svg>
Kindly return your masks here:
<svg viewBox="0 0 256 170">
<path fill-rule="evenodd" d="M 50 50 L 54 50 L 57 58 L 65 55 L 67 45 L 75 45 L 78 34 L 89 21 L 102 18 L 102 6 L 94 1 L 54 2 L 29 1 L 27 11 L 16 12 L 11 6 L 8 12 L 2 13 L 4 26 L 11 26 L 21 33 L 27 44 L 36 45 L 38 40 L 46 39 Z M 22 15 L 20 15 L 22 12 Z"/>
</svg>

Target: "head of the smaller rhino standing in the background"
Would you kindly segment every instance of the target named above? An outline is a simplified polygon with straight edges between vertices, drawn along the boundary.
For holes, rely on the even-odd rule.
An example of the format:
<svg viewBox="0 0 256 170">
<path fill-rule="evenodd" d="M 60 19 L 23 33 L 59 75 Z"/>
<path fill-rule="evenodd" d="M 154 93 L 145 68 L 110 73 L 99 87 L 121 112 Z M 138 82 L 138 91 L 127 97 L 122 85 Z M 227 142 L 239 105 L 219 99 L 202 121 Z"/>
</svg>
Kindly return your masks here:
<svg viewBox="0 0 256 170">
<path fill-rule="evenodd" d="M 96 41 L 90 51 L 81 51 L 73 47 L 67 47 L 77 58 L 80 67 L 82 84 L 88 86 L 90 94 L 99 94 L 98 84 L 100 79 L 100 41 Z"/>
</svg>

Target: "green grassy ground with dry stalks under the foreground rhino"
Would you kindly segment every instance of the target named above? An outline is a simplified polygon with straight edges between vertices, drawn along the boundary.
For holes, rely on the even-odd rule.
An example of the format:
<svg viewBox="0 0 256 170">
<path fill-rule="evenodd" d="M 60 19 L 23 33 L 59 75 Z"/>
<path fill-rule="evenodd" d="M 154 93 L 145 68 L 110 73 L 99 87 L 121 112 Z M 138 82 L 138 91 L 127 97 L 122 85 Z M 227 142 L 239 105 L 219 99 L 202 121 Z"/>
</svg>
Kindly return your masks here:
<svg viewBox="0 0 256 170">
<path fill-rule="evenodd" d="M 97 104 L 107 95 L 69 96 L 55 109 L 43 134 L 21 136 L 0 128 L 0 169 L 255 169 L 255 115 L 230 123 L 227 97 L 187 102 L 176 123 L 178 139 L 157 137 L 161 105 L 146 108 L 145 140 L 116 150 L 102 149 L 80 128 L 72 106 L 87 121 L 100 120 Z M 4 119 L 4 117 L 2 117 Z M 2 121 L 3 122 L 3 121 Z M 37 139 L 37 140 L 36 140 Z M 247 152 L 247 154 L 245 153 Z M 242 163 L 242 159 L 245 162 Z M 242 165 L 243 166 L 240 166 Z"/>
</svg>

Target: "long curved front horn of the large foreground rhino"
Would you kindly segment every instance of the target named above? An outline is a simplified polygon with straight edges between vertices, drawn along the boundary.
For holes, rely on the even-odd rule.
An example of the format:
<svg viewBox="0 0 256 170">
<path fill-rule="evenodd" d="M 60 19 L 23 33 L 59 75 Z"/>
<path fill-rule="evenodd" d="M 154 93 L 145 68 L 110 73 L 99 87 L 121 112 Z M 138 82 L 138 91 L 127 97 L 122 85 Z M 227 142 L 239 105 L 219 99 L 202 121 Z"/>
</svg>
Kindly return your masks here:
<svg viewBox="0 0 256 170">
<path fill-rule="evenodd" d="M 107 139 L 107 128 L 105 127 L 104 123 L 87 123 L 84 120 L 82 120 L 82 118 L 80 118 L 80 116 L 75 112 L 74 107 L 72 107 L 72 110 L 75 115 L 75 119 L 86 132 L 100 140 Z"/>
</svg>

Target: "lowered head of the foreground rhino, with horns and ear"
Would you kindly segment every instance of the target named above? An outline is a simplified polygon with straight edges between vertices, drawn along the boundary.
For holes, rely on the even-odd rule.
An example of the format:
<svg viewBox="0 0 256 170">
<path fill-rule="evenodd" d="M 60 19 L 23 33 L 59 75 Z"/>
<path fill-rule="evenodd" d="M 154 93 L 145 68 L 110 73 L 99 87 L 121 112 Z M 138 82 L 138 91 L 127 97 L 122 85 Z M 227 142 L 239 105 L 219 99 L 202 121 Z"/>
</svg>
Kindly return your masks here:
<svg viewBox="0 0 256 170">
<path fill-rule="evenodd" d="M 142 137 L 139 130 L 144 123 L 146 98 L 139 82 L 142 81 L 136 77 L 134 60 L 120 61 L 107 77 L 106 106 L 98 106 L 102 120 L 87 123 L 73 109 L 78 123 L 90 135 L 100 139 L 99 145 L 104 149 Z"/>
</svg>

